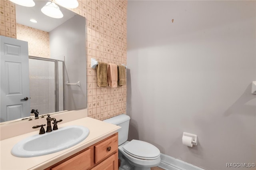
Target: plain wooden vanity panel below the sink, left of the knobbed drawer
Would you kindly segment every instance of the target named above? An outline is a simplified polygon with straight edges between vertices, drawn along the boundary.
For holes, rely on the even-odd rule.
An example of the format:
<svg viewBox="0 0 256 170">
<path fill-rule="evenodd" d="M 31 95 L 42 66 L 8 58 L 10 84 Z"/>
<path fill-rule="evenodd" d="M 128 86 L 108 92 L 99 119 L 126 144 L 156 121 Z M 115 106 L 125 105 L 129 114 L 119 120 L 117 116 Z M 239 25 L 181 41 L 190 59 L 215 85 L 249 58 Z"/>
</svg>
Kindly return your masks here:
<svg viewBox="0 0 256 170">
<path fill-rule="evenodd" d="M 58 164 L 51 170 L 86 170 L 91 167 L 92 149 L 85 150 L 80 154 Z"/>
</svg>

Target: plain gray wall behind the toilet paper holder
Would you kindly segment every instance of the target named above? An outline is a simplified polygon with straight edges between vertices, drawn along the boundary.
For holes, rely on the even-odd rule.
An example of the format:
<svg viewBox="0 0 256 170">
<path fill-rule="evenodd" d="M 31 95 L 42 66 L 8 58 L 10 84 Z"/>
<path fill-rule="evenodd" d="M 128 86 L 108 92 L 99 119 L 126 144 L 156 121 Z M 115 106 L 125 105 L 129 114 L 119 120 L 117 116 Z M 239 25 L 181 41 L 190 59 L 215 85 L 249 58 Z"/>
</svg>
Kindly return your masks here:
<svg viewBox="0 0 256 170">
<path fill-rule="evenodd" d="M 255 1 L 128 1 L 129 140 L 209 170 L 255 162 L 255 8 Z M 197 134 L 198 146 L 182 145 L 182 132 Z"/>
</svg>

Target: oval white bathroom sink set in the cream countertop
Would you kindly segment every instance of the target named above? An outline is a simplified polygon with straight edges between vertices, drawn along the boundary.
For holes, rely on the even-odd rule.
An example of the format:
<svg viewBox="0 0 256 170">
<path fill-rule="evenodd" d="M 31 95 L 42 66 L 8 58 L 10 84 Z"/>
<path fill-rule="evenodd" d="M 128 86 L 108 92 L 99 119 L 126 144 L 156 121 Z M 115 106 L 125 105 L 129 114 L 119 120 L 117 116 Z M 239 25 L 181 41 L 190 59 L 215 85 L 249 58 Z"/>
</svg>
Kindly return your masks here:
<svg viewBox="0 0 256 170">
<path fill-rule="evenodd" d="M 34 157 L 64 150 L 82 142 L 90 133 L 87 127 L 66 126 L 45 134 L 29 136 L 15 144 L 12 155 Z"/>
</svg>

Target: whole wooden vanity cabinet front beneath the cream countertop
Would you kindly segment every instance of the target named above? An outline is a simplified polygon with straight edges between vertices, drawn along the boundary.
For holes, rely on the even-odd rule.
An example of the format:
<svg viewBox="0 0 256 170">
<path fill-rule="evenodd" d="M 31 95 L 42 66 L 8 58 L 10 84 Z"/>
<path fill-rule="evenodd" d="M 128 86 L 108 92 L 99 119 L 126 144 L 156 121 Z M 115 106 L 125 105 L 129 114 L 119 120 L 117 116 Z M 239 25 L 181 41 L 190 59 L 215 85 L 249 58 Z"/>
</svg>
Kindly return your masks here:
<svg viewBox="0 0 256 170">
<path fill-rule="evenodd" d="M 118 133 L 45 170 L 118 170 Z"/>
</svg>

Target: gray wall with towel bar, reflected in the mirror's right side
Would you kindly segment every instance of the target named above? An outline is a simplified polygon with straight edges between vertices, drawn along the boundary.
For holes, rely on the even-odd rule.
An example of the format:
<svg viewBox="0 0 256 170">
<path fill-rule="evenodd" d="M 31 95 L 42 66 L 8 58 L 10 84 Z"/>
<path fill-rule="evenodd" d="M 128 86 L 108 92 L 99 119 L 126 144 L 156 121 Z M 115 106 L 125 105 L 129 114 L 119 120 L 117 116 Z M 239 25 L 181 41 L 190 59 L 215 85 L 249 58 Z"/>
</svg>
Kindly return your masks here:
<svg viewBox="0 0 256 170">
<path fill-rule="evenodd" d="M 86 96 L 86 23 L 76 15 L 49 33 L 51 57 L 65 61 L 65 82 L 81 86 L 64 85 L 65 110 L 85 108 Z"/>
</svg>

